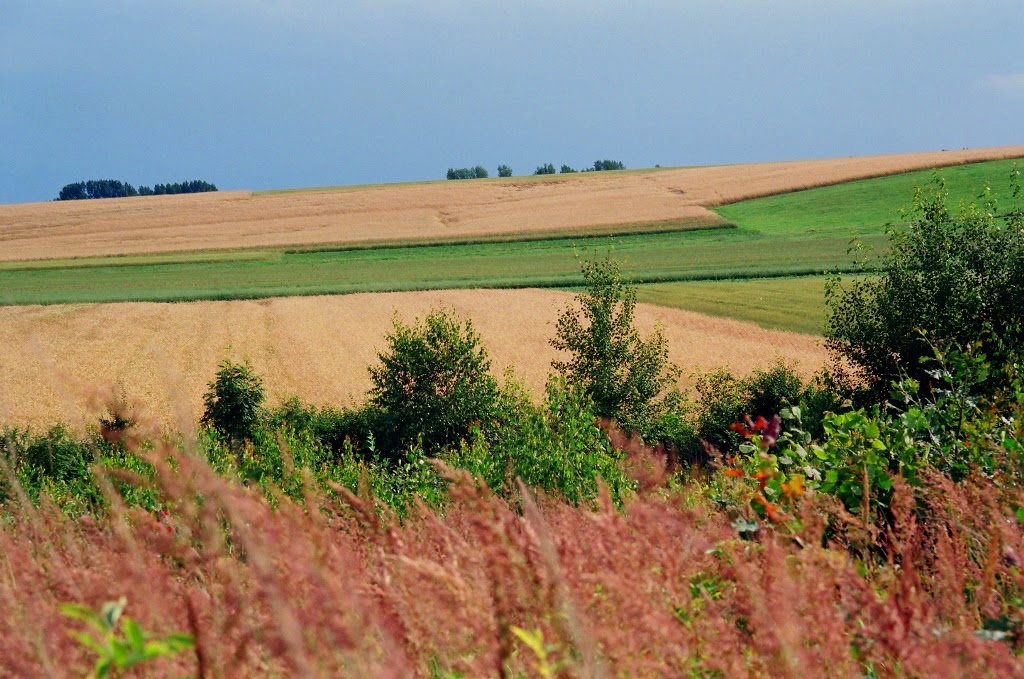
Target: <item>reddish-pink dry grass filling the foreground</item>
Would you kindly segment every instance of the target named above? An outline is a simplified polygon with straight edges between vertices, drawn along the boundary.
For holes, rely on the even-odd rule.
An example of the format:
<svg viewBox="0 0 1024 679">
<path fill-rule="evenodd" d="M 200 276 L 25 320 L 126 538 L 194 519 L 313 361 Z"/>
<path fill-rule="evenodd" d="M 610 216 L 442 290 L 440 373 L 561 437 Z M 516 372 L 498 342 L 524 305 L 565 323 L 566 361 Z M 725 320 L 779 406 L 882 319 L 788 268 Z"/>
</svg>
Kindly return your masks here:
<svg viewBox="0 0 1024 679">
<path fill-rule="evenodd" d="M 68 634 L 79 626 L 58 606 L 120 596 L 144 629 L 196 639 L 140 677 L 545 676 L 516 628 L 543 636 L 559 667 L 546 676 L 558 677 L 1024 670 L 1011 642 L 975 634 L 1004 611 L 1017 620 L 1024 584 L 1010 509 L 1021 494 L 987 478 L 929 489 L 925 524 L 897 484 L 889 558 L 858 567 L 824 538 L 820 496 L 803 501 L 799 541 L 767 527 L 737 540 L 693 487 L 659 487 L 621 512 L 528 499 L 517 512 L 459 475 L 445 511 L 398 522 L 371 498 L 311 489 L 305 506 L 271 510 L 198 457 L 175 457 L 176 471 L 155 458 L 166 522 L 8 504 L 0 675 L 83 676 L 89 661 Z"/>
</svg>

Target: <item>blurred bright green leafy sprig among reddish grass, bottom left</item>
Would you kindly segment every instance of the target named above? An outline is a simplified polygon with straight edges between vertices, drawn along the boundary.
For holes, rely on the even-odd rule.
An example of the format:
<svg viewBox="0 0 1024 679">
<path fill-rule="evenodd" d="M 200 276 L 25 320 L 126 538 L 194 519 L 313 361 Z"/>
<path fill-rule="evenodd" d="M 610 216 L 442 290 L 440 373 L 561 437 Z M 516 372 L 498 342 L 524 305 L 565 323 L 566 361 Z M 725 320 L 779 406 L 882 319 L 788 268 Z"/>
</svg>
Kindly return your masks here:
<svg viewBox="0 0 1024 679">
<path fill-rule="evenodd" d="M 101 610 L 93 610 L 77 603 L 60 606 L 60 611 L 73 620 L 85 623 L 88 632 L 72 632 L 72 636 L 98 657 L 89 675 L 90 679 L 115 676 L 127 670 L 161 657 L 187 650 L 195 645 L 188 634 L 169 634 L 155 639 L 139 624 L 124 612 L 127 600 L 109 601 Z M 120 630 L 118 627 L 120 626 Z"/>
</svg>

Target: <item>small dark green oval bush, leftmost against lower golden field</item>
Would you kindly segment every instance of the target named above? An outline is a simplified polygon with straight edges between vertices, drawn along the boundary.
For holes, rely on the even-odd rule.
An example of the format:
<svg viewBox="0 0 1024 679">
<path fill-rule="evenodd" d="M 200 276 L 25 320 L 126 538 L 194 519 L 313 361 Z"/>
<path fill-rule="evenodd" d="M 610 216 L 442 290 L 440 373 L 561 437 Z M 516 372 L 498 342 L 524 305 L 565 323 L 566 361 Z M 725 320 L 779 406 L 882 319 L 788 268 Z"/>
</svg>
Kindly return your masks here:
<svg viewBox="0 0 1024 679">
<path fill-rule="evenodd" d="M 224 358 L 203 397 L 202 422 L 230 439 L 232 445 L 241 445 L 259 423 L 263 400 L 263 380 L 248 360 L 237 364 Z"/>
</svg>

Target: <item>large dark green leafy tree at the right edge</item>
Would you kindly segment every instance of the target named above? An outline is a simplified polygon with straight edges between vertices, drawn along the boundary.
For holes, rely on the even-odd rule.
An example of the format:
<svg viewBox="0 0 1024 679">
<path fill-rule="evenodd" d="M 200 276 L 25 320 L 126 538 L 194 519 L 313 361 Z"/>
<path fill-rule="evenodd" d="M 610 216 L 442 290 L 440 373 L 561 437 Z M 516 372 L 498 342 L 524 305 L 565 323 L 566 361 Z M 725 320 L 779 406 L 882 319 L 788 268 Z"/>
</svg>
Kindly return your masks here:
<svg viewBox="0 0 1024 679">
<path fill-rule="evenodd" d="M 952 212 L 936 175 L 915 192 L 910 225 L 889 225 L 890 250 L 881 274 L 843 287 L 826 286 L 825 336 L 834 352 L 849 359 L 877 397 L 901 375 L 926 389 L 933 376 L 923 358 L 934 346 L 966 346 L 986 329 L 1019 346 L 1024 322 L 1024 217 L 1020 175 L 1014 168 L 1015 207 L 999 213 L 988 192 Z"/>
</svg>

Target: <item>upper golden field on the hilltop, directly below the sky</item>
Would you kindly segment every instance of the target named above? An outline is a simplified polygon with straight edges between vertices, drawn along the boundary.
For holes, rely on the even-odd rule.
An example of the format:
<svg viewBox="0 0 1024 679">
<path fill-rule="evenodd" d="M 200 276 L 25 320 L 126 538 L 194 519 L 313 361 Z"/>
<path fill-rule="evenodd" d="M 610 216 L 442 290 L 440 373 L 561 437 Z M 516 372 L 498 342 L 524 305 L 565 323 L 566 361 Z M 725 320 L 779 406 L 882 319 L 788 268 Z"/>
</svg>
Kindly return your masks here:
<svg viewBox="0 0 1024 679">
<path fill-rule="evenodd" d="M 1024 146 L 475 181 L 0 205 L 0 260 L 718 220 L 707 208 Z"/>
</svg>

